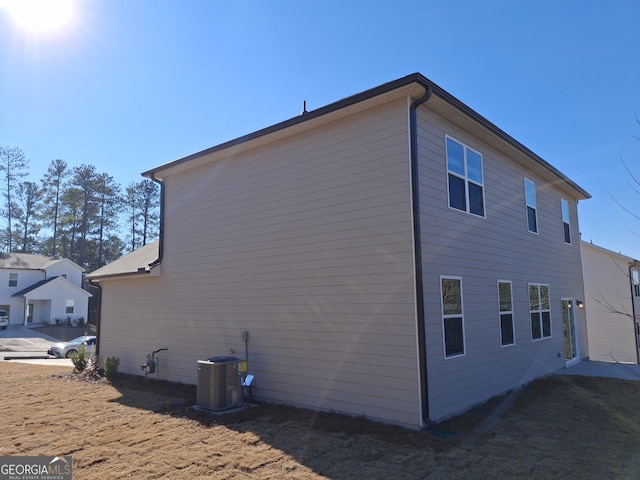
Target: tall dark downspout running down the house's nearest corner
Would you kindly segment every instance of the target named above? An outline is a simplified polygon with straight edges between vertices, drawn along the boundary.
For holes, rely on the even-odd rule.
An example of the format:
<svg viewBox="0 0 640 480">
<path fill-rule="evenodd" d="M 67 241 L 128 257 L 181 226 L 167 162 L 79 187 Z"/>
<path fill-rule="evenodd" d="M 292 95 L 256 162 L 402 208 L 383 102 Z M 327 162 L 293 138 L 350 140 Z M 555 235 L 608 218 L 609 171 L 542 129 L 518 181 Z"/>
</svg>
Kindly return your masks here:
<svg viewBox="0 0 640 480">
<path fill-rule="evenodd" d="M 420 176 L 418 175 L 418 116 L 420 105 L 426 103 L 433 89 L 425 86 L 426 93 L 416 99 L 409 107 L 409 138 L 411 157 L 411 209 L 413 214 L 413 251 L 416 282 L 416 321 L 418 334 L 418 361 L 420 375 L 420 398 L 422 400 L 422 423 L 430 422 L 429 418 L 429 386 L 427 380 L 427 347 L 424 315 L 424 289 L 422 281 L 422 235 L 420 233 Z"/>
</svg>

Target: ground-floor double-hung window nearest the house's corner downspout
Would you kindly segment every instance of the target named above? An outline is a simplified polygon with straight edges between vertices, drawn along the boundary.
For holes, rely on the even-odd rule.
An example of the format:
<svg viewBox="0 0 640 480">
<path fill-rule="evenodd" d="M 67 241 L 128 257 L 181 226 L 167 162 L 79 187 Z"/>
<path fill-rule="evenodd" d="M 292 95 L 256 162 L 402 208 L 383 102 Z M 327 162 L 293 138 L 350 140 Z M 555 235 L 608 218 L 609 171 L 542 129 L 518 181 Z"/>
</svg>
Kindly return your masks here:
<svg viewBox="0 0 640 480">
<path fill-rule="evenodd" d="M 464 355 L 464 320 L 462 315 L 462 279 L 442 277 L 442 324 L 444 329 L 444 355 Z"/>
</svg>

